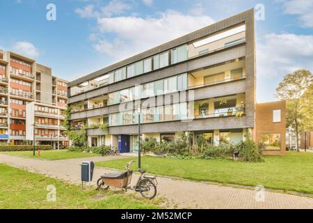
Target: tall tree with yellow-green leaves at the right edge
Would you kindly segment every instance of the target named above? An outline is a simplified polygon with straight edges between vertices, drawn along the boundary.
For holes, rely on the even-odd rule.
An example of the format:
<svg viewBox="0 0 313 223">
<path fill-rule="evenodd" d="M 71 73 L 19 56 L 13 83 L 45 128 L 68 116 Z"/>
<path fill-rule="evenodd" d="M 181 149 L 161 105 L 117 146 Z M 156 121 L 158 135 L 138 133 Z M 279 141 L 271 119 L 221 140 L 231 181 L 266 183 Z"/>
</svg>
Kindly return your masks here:
<svg viewBox="0 0 313 223">
<path fill-rule="evenodd" d="M 287 126 L 291 126 L 296 131 L 296 147 L 300 151 L 298 145 L 299 132 L 305 128 L 312 128 L 312 120 L 307 122 L 308 118 L 312 118 L 312 84 L 313 75 L 310 70 L 296 70 L 286 76 L 276 89 L 275 96 L 287 102 Z M 307 102 L 311 103 L 307 103 Z M 311 123 L 311 126 L 307 124 Z"/>
</svg>

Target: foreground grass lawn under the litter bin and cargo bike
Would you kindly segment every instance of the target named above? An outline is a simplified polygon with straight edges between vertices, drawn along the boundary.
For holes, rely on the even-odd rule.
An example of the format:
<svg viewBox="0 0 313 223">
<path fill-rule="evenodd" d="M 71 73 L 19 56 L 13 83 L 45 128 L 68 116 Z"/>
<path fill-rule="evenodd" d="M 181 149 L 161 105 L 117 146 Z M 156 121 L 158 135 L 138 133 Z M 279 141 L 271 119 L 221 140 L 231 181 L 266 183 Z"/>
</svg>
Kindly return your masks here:
<svg viewBox="0 0 313 223">
<path fill-rule="evenodd" d="M 0 164 L 0 209 L 33 208 L 159 208 L 158 200 L 148 201 L 123 194 L 118 190 L 113 194 L 108 190 L 81 190 L 77 185 L 47 178 L 40 174 Z M 56 201 L 47 201 L 47 185 L 56 187 Z M 104 198 L 95 199 L 97 195 Z"/>
</svg>

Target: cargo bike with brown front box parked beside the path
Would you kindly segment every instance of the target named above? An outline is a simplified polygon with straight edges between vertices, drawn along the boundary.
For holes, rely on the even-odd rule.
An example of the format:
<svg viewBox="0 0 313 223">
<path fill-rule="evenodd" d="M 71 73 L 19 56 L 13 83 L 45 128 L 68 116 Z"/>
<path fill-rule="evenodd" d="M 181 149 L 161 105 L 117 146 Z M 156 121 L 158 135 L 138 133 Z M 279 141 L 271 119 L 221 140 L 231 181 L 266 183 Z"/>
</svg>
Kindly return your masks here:
<svg viewBox="0 0 313 223">
<path fill-rule="evenodd" d="M 97 180 L 96 190 L 107 190 L 109 187 L 117 187 L 127 190 L 139 192 L 146 199 L 153 199 L 157 195 L 157 178 L 145 174 L 145 170 L 139 169 L 141 176 L 138 178 L 136 185 L 129 186 L 133 171 L 130 169 L 131 163 L 127 162 L 126 171 L 111 172 L 104 174 Z"/>
</svg>

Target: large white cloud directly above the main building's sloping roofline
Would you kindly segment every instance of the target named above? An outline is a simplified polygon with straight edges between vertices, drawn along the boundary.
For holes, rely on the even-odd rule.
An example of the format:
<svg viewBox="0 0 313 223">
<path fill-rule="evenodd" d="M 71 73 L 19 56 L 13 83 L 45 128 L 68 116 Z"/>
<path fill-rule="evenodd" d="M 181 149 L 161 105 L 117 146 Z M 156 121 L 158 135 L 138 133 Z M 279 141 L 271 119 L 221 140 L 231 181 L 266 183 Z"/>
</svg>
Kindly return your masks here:
<svg viewBox="0 0 313 223">
<path fill-rule="evenodd" d="M 102 38 L 93 47 L 115 59 L 123 59 L 213 22 L 209 16 L 184 15 L 175 10 L 159 13 L 158 17 L 101 17 L 97 19 L 100 35 L 110 33 L 115 38 L 111 41 Z"/>
</svg>

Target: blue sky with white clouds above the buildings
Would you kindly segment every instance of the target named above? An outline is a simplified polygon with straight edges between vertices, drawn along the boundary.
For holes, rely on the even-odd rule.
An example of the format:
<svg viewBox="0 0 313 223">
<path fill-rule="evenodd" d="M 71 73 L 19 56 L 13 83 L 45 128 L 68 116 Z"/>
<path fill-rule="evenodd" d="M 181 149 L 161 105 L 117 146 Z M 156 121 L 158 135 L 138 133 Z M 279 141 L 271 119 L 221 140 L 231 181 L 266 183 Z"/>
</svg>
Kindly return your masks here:
<svg viewBox="0 0 313 223">
<path fill-rule="evenodd" d="M 47 20 L 51 3 L 55 20 Z M 244 10 L 262 12 L 260 6 L 257 102 L 268 102 L 278 100 L 284 75 L 313 71 L 313 0 L 0 0 L 0 49 L 72 81 Z"/>
</svg>

